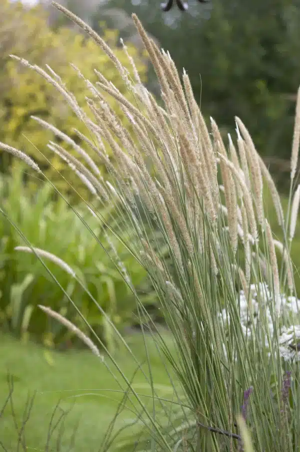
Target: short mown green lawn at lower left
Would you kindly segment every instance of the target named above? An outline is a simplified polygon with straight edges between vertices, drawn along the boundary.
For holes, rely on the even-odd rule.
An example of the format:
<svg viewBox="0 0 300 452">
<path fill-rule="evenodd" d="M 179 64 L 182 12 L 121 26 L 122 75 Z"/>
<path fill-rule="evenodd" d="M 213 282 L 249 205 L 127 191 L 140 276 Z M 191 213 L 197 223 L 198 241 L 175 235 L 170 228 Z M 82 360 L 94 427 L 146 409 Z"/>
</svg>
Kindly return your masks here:
<svg viewBox="0 0 300 452">
<path fill-rule="evenodd" d="M 128 338 L 128 343 L 138 360 L 144 361 L 143 338 L 136 334 Z M 49 359 L 44 348 L 31 343 L 21 343 L 6 335 L 0 334 L 0 344 L 0 410 L 8 393 L 8 372 L 14 380 L 13 402 L 18 421 L 24 413 L 28 394 L 36 392 L 25 427 L 28 452 L 45 450 L 50 417 L 59 400 L 63 409 L 71 408 L 65 418 L 62 450 L 67 450 L 67 440 L 76 425 L 73 450 L 98 450 L 103 433 L 122 397 L 121 393 L 115 392 L 118 389 L 117 383 L 105 365 L 89 351 L 51 351 Z M 147 338 L 147 347 L 157 392 L 169 399 L 172 388 L 164 368 L 165 359 L 159 356 L 150 336 Z M 109 360 L 105 359 L 106 361 L 113 369 Z M 137 366 L 128 352 L 119 349 L 117 362 L 130 379 Z M 148 374 L 146 364 L 143 369 Z M 117 374 L 115 369 L 114 373 Z M 151 394 L 141 371 L 136 373 L 133 381 L 136 392 Z M 151 398 L 148 400 L 151 402 Z M 119 420 L 119 425 L 133 417 L 134 415 L 126 410 Z M 48 450 L 55 450 L 54 436 Z M 9 404 L 0 417 L 0 441 L 0 446 L 2 443 L 7 451 L 16 450 L 17 434 Z"/>
</svg>

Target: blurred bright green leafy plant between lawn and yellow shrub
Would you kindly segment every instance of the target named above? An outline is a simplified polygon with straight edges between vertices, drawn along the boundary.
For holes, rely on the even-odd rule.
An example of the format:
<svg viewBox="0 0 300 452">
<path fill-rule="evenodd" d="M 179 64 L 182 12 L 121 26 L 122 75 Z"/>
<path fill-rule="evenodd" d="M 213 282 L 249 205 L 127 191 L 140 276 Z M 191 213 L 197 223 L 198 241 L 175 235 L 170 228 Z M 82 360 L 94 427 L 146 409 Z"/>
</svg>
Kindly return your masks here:
<svg viewBox="0 0 300 452">
<path fill-rule="evenodd" d="M 24 184 L 23 175 L 23 168 L 17 165 L 11 175 L 0 177 L 0 208 L 4 213 L 0 220 L 2 327 L 6 325 L 8 330 L 18 336 L 30 335 L 31 338 L 50 344 L 65 342 L 69 335 L 56 322 L 47 322 L 36 308 L 38 304 L 46 304 L 67 315 L 77 326 L 83 327 L 82 321 L 63 292 L 53 284 L 42 264 L 34 256 L 14 250 L 16 246 L 26 245 L 26 242 L 12 223 L 32 246 L 47 250 L 65 261 L 118 328 L 136 323 L 134 296 L 118 271 L 118 265 L 122 262 L 129 269 L 130 278 L 139 286 L 145 303 L 155 303 L 145 279 L 145 271 L 113 237 L 109 240 L 116 248 L 118 260 L 115 257 L 111 259 L 109 231 L 102 229 L 103 224 L 91 217 L 86 206 L 81 205 L 76 213 L 87 222 L 94 240 L 81 218 L 62 198 L 55 198 L 49 184 L 43 184 L 32 193 Z M 111 207 L 99 208 L 98 214 L 103 217 L 103 222 L 112 218 Z M 127 234 L 125 229 L 120 230 L 123 239 Z M 88 318 L 88 322 L 104 342 L 109 342 L 109 324 L 86 291 L 63 269 L 49 261 L 46 263 L 59 284 Z"/>
</svg>

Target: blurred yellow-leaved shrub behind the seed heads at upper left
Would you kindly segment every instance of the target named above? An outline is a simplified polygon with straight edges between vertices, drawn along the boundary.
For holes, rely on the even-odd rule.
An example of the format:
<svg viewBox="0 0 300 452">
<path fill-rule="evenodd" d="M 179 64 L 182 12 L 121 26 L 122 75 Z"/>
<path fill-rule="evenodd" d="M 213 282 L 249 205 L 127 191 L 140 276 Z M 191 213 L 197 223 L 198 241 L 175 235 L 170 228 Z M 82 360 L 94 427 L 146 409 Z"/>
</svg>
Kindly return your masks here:
<svg viewBox="0 0 300 452">
<path fill-rule="evenodd" d="M 40 7 L 26 9 L 18 2 L 1 0 L 0 18 L 0 141 L 18 149 L 25 149 L 64 193 L 69 186 L 53 166 L 82 193 L 82 186 L 79 187 L 73 171 L 68 170 L 60 158 L 46 147 L 49 139 L 55 141 L 53 134 L 42 129 L 30 115 L 39 116 L 73 138 L 76 137 L 73 128 L 86 134 L 84 125 L 66 107 L 62 97 L 59 99 L 57 91 L 49 83 L 34 71 L 12 60 L 9 55 L 25 58 L 31 64 L 37 64 L 44 69 L 46 64 L 49 65 L 58 73 L 67 89 L 75 94 L 79 105 L 83 104 L 85 96 L 90 93 L 84 81 L 79 79 L 68 63 L 74 64 L 91 82 L 95 82 L 94 69 L 98 69 L 120 92 L 128 98 L 132 95 L 125 93 L 126 88 L 117 70 L 93 41 L 71 29 L 51 30 Z M 116 32 L 107 30 L 103 38 L 132 74 L 125 53 L 117 46 L 116 36 Z M 144 56 L 139 57 L 137 50 L 130 45 L 128 52 L 134 57 L 142 78 L 145 78 Z M 113 99 L 108 102 L 121 120 L 127 123 L 116 102 Z M 77 137 L 76 141 L 78 142 Z M 41 153 L 50 160 L 50 165 Z M 1 169 L 6 171 L 10 162 L 1 151 L 0 163 Z"/>
</svg>

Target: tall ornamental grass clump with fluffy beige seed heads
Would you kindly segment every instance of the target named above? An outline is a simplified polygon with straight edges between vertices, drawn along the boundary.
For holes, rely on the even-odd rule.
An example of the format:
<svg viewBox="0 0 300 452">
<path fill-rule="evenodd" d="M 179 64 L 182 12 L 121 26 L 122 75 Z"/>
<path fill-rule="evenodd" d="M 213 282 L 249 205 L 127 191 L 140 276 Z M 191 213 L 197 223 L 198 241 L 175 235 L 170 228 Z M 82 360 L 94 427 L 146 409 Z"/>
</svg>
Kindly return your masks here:
<svg viewBox="0 0 300 452">
<path fill-rule="evenodd" d="M 123 242 L 146 270 L 175 344 L 173 353 L 158 336 L 183 393 L 178 396 L 174 383 L 180 415 L 174 404 L 170 403 L 168 411 L 167 400 L 156 396 L 151 376 L 148 384 L 153 405 L 148 409 L 112 358 L 139 407 L 137 418 L 148 429 L 149 440 L 140 447 L 251 450 L 252 441 L 259 452 L 298 450 L 300 321 L 290 259 L 298 203 L 298 107 L 290 195 L 284 212 L 241 119 L 235 118 L 236 140 L 229 137 L 228 143 L 213 119 L 208 128 L 188 75 L 183 72 L 181 81 L 169 54 L 148 38 L 136 16 L 133 21 L 160 83 L 163 106 L 143 87 L 137 71 L 131 79 L 86 24 L 53 5 L 111 58 L 135 99 L 129 102 L 97 72 L 95 85 L 86 80 L 90 90 L 86 113 L 51 74 L 33 68 L 57 87 L 84 123 L 85 141 L 90 143 L 91 154 L 95 152 L 106 166 L 109 181 L 95 180 L 62 146 L 51 143 L 50 149 L 78 175 L 84 175 L 103 203 L 108 200 L 115 207 L 128 230 Z M 103 93 L 118 103 L 136 140 L 109 108 Z M 300 94 L 297 105 L 299 102 Z M 103 141 L 111 148 L 113 163 Z M 282 242 L 270 228 L 264 187 L 271 195 Z M 99 215 L 92 204 L 89 207 Z M 109 221 L 106 224 L 119 237 L 117 228 Z M 131 289 L 138 302 L 132 285 Z M 142 325 L 146 313 L 137 306 Z M 148 366 L 151 369 L 150 360 Z M 111 432 L 108 430 L 103 447 L 110 444 Z"/>
</svg>

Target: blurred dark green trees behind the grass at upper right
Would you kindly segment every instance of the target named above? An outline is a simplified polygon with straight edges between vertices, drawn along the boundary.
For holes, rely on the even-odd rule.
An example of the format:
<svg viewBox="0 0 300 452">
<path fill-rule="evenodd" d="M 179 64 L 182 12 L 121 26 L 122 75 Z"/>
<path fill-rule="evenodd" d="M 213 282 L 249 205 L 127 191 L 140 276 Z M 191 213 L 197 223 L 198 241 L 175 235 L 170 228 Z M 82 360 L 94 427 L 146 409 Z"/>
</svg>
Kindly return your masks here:
<svg viewBox="0 0 300 452">
<path fill-rule="evenodd" d="M 240 116 L 263 156 L 287 158 L 300 84 L 300 0 L 189 0 L 188 6 L 185 13 L 172 8 L 164 14 L 160 2 L 108 0 L 105 9 L 138 15 L 188 72 L 205 116 L 224 131 Z"/>
</svg>

